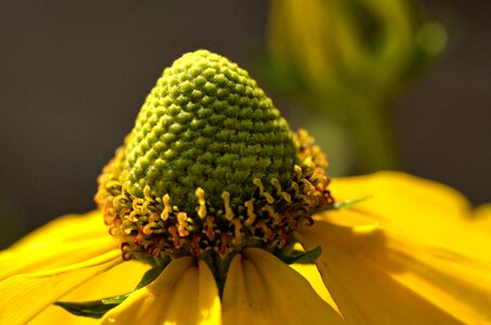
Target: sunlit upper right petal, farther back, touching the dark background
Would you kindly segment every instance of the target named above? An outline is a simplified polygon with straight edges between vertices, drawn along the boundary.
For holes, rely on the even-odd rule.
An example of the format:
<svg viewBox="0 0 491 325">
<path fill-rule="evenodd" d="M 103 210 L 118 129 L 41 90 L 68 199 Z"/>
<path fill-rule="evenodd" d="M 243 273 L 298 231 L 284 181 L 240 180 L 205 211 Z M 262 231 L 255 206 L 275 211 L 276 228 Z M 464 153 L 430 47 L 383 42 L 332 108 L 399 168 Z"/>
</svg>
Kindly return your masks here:
<svg viewBox="0 0 491 325">
<path fill-rule="evenodd" d="M 489 232 L 479 230 L 467 199 L 449 186 L 405 173 L 378 172 L 335 180 L 331 190 L 340 200 L 371 197 L 350 209 L 316 216 L 315 220 L 357 231 L 379 227 L 400 242 L 445 247 L 484 263 L 491 259 Z"/>
</svg>

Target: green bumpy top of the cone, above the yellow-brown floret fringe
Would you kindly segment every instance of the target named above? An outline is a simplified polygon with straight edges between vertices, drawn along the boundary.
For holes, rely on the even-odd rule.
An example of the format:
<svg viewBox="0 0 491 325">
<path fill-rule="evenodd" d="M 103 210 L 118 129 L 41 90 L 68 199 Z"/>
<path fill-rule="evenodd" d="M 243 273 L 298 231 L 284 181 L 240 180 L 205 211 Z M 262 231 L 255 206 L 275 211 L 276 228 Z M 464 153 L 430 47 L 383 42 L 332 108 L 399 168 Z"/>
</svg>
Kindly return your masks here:
<svg viewBox="0 0 491 325">
<path fill-rule="evenodd" d="M 293 178 L 296 148 L 286 121 L 247 72 L 208 51 L 184 54 L 164 70 L 128 138 L 122 168 L 128 188 L 170 196 L 188 213 L 197 187 L 216 209 L 249 199 L 261 179 Z"/>
</svg>

